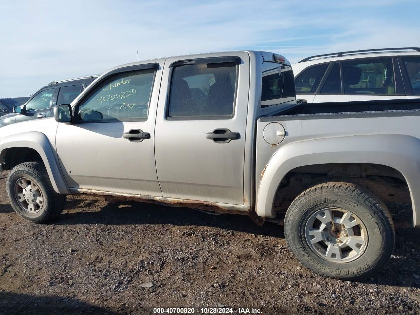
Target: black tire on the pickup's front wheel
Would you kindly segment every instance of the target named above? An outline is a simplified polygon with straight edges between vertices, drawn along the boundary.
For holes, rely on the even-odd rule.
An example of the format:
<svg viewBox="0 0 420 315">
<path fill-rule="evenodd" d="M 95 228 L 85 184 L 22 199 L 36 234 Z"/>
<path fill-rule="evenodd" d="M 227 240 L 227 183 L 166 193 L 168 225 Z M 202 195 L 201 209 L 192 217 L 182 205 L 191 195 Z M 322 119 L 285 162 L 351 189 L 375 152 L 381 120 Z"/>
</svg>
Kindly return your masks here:
<svg viewBox="0 0 420 315">
<path fill-rule="evenodd" d="M 29 183 L 29 185 L 34 183 L 34 194 L 36 191 L 36 194 L 41 196 L 40 204 L 35 202 L 31 208 L 32 212 L 29 208 L 27 210 L 24 209 L 26 206 L 29 207 L 30 202 L 28 203 L 26 199 L 23 200 L 23 198 L 26 198 L 24 194 L 19 194 L 20 189 L 25 190 L 24 187 L 18 184 L 22 183 L 22 180 L 23 183 Z M 47 170 L 42 163 L 25 162 L 15 166 L 7 177 L 6 186 L 7 195 L 13 210 L 25 220 L 34 223 L 47 223 L 63 212 L 66 204 L 66 195 L 57 194 L 54 191 Z M 21 197 L 23 201 L 19 201 L 19 195 L 23 196 Z M 33 196 L 35 197 L 35 195 Z"/>
</svg>

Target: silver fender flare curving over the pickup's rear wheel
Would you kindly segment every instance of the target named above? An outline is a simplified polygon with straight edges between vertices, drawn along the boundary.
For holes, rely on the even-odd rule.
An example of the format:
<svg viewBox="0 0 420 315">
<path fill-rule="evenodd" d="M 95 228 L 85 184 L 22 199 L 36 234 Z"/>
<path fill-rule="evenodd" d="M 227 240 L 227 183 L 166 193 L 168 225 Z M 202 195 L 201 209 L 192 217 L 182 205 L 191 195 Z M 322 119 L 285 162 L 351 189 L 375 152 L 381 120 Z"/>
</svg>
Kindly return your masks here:
<svg viewBox="0 0 420 315">
<path fill-rule="evenodd" d="M 274 217 L 275 194 L 284 176 L 296 167 L 327 163 L 371 163 L 392 167 L 405 178 L 420 226 L 420 141 L 407 135 L 363 135 L 299 141 L 281 147 L 262 176 L 256 212 Z"/>
</svg>

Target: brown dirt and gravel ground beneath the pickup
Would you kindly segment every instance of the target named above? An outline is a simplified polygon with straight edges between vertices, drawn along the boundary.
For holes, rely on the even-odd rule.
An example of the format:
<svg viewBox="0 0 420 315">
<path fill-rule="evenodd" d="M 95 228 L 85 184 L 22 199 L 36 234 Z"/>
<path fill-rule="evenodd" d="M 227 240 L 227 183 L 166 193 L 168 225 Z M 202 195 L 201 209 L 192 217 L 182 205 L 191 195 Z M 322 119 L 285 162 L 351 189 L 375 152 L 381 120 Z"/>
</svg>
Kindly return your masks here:
<svg viewBox="0 0 420 315">
<path fill-rule="evenodd" d="M 68 196 L 54 224 L 27 223 L 8 204 L 1 174 L 0 314 L 201 314 L 217 306 L 233 314 L 420 314 L 420 229 L 396 235 L 374 277 L 327 279 L 290 254 L 281 226 L 245 216 Z"/>
</svg>

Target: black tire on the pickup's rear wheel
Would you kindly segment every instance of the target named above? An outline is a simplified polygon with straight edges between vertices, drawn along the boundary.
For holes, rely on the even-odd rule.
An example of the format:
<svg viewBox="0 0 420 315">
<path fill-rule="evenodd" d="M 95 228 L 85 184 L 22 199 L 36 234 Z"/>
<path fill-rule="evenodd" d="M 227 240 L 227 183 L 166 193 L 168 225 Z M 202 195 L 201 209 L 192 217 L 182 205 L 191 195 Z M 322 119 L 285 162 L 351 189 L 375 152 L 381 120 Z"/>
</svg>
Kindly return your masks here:
<svg viewBox="0 0 420 315">
<path fill-rule="evenodd" d="M 341 260 L 342 249 L 339 249 L 339 258 L 329 251 L 330 246 L 345 246 L 340 238 L 335 238 L 338 237 L 335 234 L 337 229 L 335 227 L 333 230 L 331 229 L 331 226 L 336 226 L 336 223 L 328 223 L 330 228 L 320 227 L 322 233 L 316 228 L 314 229 L 312 225 L 317 223 L 315 221 L 319 217 L 326 220 L 327 214 L 324 210 L 330 211 L 329 217 L 333 217 L 332 222 L 334 219 L 338 220 L 336 214 L 331 215 L 331 213 L 339 213 L 335 212 L 336 209 L 354 214 L 352 222 L 362 222 L 357 225 L 357 228 L 363 230 L 360 235 L 367 235 L 363 245 L 360 245 L 360 248 L 363 249 L 363 251 L 359 249 L 360 253 L 348 247 L 347 252 L 353 253 L 356 257 L 352 261 L 345 261 L 345 259 L 351 259 L 350 254 L 348 254 L 350 258 Z M 317 213 L 318 216 L 316 216 Z M 352 218 L 351 213 L 348 214 L 349 218 Z M 354 220 L 354 217 L 357 220 Z M 341 221 L 344 221 L 344 218 Z M 318 224 L 322 225 L 323 222 L 320 220 Z M 310 229 L 308 226 L 312 228 Z M 344 228 L 340 235 L 348 236 L 350 233 L 347 233 L 346 226 L 341 225 L 341 227 Z M 318 235 L 311 239 L 312 235 L 309 235 L 311 234 L 309 231 L 319 233 L 322 241 L 318 241 Z M 345 232 L 343 233 L 343 231 Z M 335 235 L 333 240 L 329 237 L 330 233 Z M 353 280 L 367 277 L 380 270 L 390 258 L 395 240 L 392 218 L 385 204 L 367 189 L 357 184 L 344 182 L 319 184 L 308 188 L 296 197 L 286 213 L 284 234 L 288 247 L 304 266 L 323 276 Z M 325 237 L 326 235 L 328 237 Z M 329 240 L 327 241 L 327 239 Z M 336 243 L 332 244 L 333 241 Z M 314 242 L 315 245 L 311 245 L 311 242 Z M 320 253 L 323 248 L 326 252 L 324 257 Z M 327 254 L 328 252 L 329 254 Z M 328 255 L 330 255 L 330 259 L 327 259 Z M 341 261 L 332 261 L 334 259 Z"/>
</svg>

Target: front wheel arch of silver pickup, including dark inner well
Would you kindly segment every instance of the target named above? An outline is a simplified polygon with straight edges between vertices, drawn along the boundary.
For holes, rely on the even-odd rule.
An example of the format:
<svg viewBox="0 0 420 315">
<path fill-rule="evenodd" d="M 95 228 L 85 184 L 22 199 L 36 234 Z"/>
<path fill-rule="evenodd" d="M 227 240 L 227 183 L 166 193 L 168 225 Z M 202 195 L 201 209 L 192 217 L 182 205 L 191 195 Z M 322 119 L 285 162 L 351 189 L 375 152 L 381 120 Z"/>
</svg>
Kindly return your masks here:
<svg viewBox="0 0 420 315">
<path fill-rule="evenodd" d="M 17 164 L 31 160 L 40 161 L 47 170 L 54 191 L 59 194 L 70 194 L 55 156 L 55 150 L 48 137 L 42 132 L 31 131 L 9 135 L 0 143 L 2 170 L 11 169 Z"/>
</svg>

